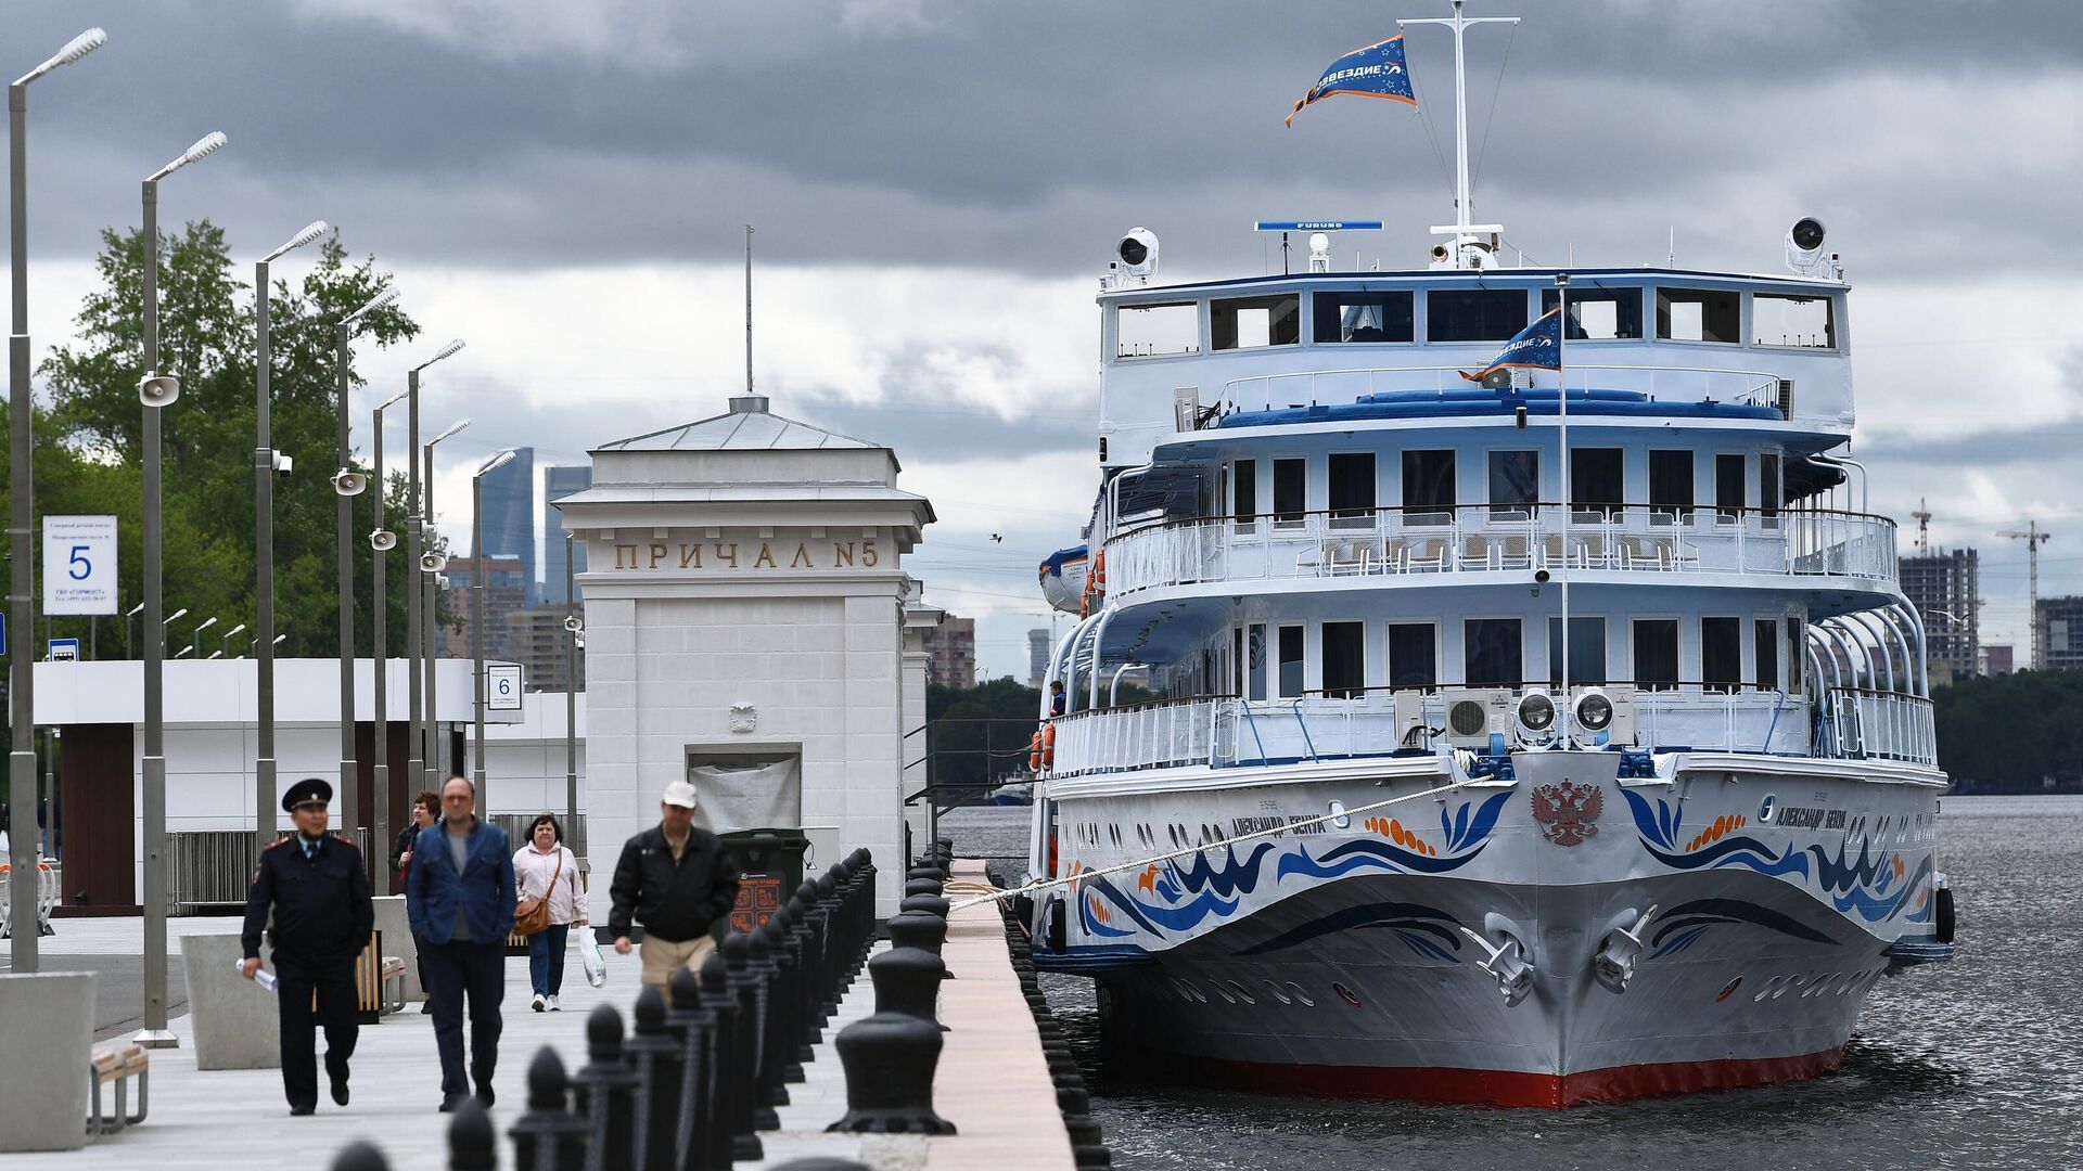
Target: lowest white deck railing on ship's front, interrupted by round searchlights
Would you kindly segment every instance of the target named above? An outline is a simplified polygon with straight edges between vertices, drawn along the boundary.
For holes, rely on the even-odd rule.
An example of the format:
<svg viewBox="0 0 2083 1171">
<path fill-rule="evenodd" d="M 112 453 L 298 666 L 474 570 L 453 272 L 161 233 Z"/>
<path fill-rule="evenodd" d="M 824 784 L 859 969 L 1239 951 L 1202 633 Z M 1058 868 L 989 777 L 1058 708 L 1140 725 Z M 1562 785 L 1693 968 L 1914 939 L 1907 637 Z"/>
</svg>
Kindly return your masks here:
<svg viewBox="0 0 2083 1171">
<path fill-rule="evenodd" d="M 1496 690 L 1510 690 L 1516 700 L 1535 688 L 1556 692 L 1541 681 Z M 1631 742 L 1648 748 L 1810 754 L 1810 706 L 1800 694 L 1702 681 L 1608 688 L 1631 694 L 1637 729 Z M 1929 713 L 1929 704 L 1925 708 Z M 1433 752 L 1448 744 L 1446 696 L 1439 688 L 1346 688 L 1266 700 L 1191 696 L 1079 711 L 1056 717 L 1054 723 L 1050 775 L 1056 777 L 1187 765 L 1227 769 L 1339 761 L 1398 750 Z M 1873 719 L 1866 723 L 1875 725 Z M 1506 742 L 1512 740 L 1506 733 Z M 1816 754 L 1839 752 L 1831 744 L 1829 752 Z"/>
</svg>

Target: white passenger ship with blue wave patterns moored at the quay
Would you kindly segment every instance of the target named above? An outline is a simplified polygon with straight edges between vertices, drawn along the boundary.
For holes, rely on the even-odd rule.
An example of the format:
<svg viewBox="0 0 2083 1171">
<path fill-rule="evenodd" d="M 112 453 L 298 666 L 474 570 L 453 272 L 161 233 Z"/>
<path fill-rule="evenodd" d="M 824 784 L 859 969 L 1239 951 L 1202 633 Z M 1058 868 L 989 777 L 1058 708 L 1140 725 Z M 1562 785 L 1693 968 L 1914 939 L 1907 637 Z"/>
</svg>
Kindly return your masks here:
<svg viewBox="0 0 2083 1171">
<path fill-rule="evenodd" d="M 1466 217 L 1427 269 L 1327 244 L 1164 285 L 1131 233 L 1100 294 L 1031 852 L 1087 877 L 1033 896 L 1037 963 L 1116 1052 L 1281 1090 L 1835 1067 L 1952 923 L 1821 225 L 1793 275 L 1500 267 Z M 1564 304 L 1560 371 L 1462 375 Z"/>
</svg>

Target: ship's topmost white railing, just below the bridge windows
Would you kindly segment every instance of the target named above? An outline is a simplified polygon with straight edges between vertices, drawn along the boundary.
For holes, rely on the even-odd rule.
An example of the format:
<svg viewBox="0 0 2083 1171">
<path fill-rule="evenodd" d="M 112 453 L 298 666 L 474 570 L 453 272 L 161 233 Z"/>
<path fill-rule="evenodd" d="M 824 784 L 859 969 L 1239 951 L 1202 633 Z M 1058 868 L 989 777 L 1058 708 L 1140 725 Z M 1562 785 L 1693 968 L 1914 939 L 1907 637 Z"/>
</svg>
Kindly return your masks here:
<svg viewBox="0 0 2083 1171">
<path fill-rule="evenodd" d="M 1369 394 L 1448 392 L 1477 385 L 1462 375 L 1466 367 L 1354 367 L 1341 371 L 1294 371 L 1254 375 L 1223 383 L 1219 402 L 1194 417 L 1194 427 L 1214 427 L 1223 415 L 1237 410 L 1279 410 L 1289 406 L 1358 402 Z M 1471 371 L 1473 373 L 1473 371 Z M 1529 371 L 1516 373 L 1516 385 L 1529 381 Z M 1554 388 L 1554 371 L 1531 371 L 1533 385 Z M 1731 371 L 1712 367 L 1593 367 L 1571 365 L 1560 381 L 1571 390 L 1635 390 L 1650 400 L 1668 402 L 1743 402 L 1752 406 L 1779 404 L 1779 375 L 1766 371 Z"/>
</svg>

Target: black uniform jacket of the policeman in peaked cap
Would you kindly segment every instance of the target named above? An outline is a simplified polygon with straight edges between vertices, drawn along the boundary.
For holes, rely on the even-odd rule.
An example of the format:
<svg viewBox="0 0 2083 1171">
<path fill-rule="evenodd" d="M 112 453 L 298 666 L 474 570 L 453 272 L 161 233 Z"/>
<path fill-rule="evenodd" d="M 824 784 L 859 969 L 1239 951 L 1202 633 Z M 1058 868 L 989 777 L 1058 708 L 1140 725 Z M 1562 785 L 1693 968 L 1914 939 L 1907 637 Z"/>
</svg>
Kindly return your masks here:
<svg viewBox="0 0 2083 1171">
<path fill-rule="evenodd" d="M 292 833 L 260 852 L 254 886 L 246 896 L 246 927 L 240 944 L 246 958 L 260 954 L 260 929 L 269 908 L 269 931 L 277 952 L 300 961 L 352 961 L 369 946 L 375 908 L 369 904 L 369 873 L 362 852 L 342 838 L 321 838 L 306 858 Z"/>
</svg>

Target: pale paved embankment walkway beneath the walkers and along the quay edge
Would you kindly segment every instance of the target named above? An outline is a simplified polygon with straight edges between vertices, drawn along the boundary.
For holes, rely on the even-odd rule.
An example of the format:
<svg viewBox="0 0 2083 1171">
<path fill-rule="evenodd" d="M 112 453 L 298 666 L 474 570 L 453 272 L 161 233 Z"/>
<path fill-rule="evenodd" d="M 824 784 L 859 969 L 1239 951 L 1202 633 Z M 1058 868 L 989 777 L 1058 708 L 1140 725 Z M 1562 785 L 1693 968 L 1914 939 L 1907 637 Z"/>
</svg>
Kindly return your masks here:
<svg viewBox="0 0 2083 1171">
<path fill-rule="evenodd" d="M 969 867 L 977 867 L 969 863 Z M 981 867 L 975 875 L 981 877 Z M 235 933 L 233 919 L 181 919 L 173 963 L 179 967 L 181 933 Z M 71 919 L 62 923 L 69 954 L 135 954 L 142 938 L 137 919 Z M 577 942 L 573 942 L 577 950 Z M 504 1131 L 525 1108 L 527 1065 L 542 1046 L 564 1058 L 567 1071 L 585 1065 L 585 1017 L 602 1000 L 629 1021 L 637 990 L 637 956 L 604 952 L 608 981 L 585 983 L 579 956 L 564 971 L 562 1013 L 531 1013 L 527 961 L 506 961 L 506 1031 L 494 1079 L 498 1106 L 494 1125 Z M 950 923 L 948 967 L 956 979 L 942 994 L 942 1021 L 950 1025 L 935 1077 L 935 1106 L 960 1127 L 954 1138 L 919 1136 L 829 1136 L 825 1125 L 846 1113 L 846 1077 L 831 1042 L 837 1031 L 873 1011 L 873 988 L 862 973 L 839 1002 L 839 1015 L 817 1046 L 817 1061 L 804 1065 L 806 1081 L 789 1086 L 789 1106 L 781 1111 L 781 1131 L 762 1133 L 764 1163 L 775 1167 L 810 1154 L 854 1158 L 877 1171 L 919 1169 L 1071 1169 L 1071 1144 L 1056 1113 L 1056 1096 L 1042 1056 L 1039 1033 L 1019 981 L 1012 975 L 998 913 L 989 906 L 962 911 Z M 169 1027 L 183 1038 L 190 1019 Z M 321 1036 L 319 1048 L 323 1052 Z M 433 1050 L 431 1019 L 417 1006 L 365 1025 L 354 1052 L 354 1100 L 337 1108 L 323 1098 L 319 1113 L 292 1119 L 281 1096 L 281 1071 L 231 1069 L 198 1071 L 194 1048 L 152 1052 L 152 1113 L 119 1136 L 60 1154 L 6 1154 L 8 1171 L 85 1171 L 96 1167 L 152 1171 L 221 1171 L 227 1165 L 269 1165 L 294 1146 L 323 1152 L 325 1163 L 300 1163 L 321 1171 L 331 1154 L 354 1140 L 383 1148 L 394 1171 L 442 1171 L 448 1167 L 448 1115 L 437 1113 L 442 1075 Z M 502 1165 L 512 1148 L 502 1138 Z"/>
</svg>

